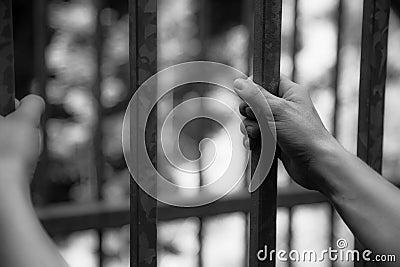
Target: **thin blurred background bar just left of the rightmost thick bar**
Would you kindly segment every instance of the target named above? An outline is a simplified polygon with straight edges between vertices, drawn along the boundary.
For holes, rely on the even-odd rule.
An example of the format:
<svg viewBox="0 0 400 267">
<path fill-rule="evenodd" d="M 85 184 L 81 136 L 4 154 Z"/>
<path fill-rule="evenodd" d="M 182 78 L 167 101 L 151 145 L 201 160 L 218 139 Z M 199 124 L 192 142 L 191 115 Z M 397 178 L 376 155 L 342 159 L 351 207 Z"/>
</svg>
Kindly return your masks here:
<svg viewBox="0 0 400 267">
<path fill-rule="evenodd" d="M 337 22 L 337 39 L 336 39 L 336 64 L 333 74 L 333 90 L 334 90 L 334 109 L 333 109 L 333 127 L 332 134 L 334 137 L 338 135 L 338 123 L 339 123 L 339 82 L 340 82 L 340 71 L 342 67 L 342 58 L 340 56 L 342 50 L 342 32 L 343 32 L 343 0 L 338 0 L 338 6 L 336 11 L 336 22 Z M 335 215 L 336 211 L 333 205 L 330 206 L 330 234 L 329 243 L 333 247 L 335 245 Z M 335 261 L 331 261 L 331 266 L 336 266 Z"/>
</svg>

